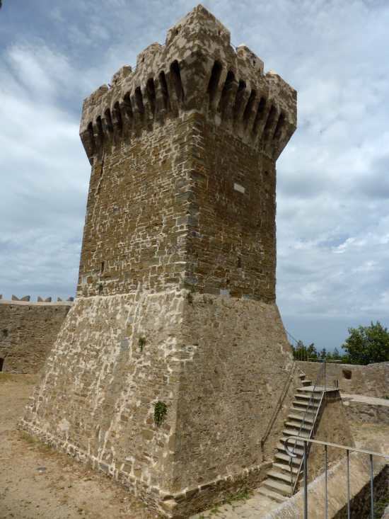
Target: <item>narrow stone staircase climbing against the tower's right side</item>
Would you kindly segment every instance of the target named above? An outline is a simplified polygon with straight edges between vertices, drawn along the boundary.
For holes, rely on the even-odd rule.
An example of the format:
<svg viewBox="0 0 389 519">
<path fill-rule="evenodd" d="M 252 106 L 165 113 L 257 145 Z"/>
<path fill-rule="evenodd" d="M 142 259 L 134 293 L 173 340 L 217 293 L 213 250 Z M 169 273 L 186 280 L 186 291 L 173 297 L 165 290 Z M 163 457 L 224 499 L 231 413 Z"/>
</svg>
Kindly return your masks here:
<svg viewBox="0 0 389 519">
<path fill-rule="evenodd" d="M 306 418 L 305 421 L 303 421 L 303 418 L 315 388 L 312 385 L 312 381 L 308 380 L 305 374 L 301 373 L 299 376 L 301 379 L 301 387 L 297 389 L 294 395 L 294 401 L 292 402 L 288 418 L 284 423 L 281 439 L 277 444 L 277 452 L 274 455 L 272 468 L 269 469 L 267 478 L 265 481 L 262 481 L 257 489 L 259 494 L 271 498 L 278 503 L 285 501 L 291 496 L 293 492 L 291 471 L 296 477 L 303 460 L 303 448 L 298 445 L 294 449 L 297 457 L 294 457 L 290 464 L 291 458 L 287 454 L 285 447 L 286 438 L 289 436 L 297 436 L 301 426 L 306 429 L 309 434 L 314 425 L 314 418 L 309 418 L 308 420 Z M 320 389 L 316 389 L 315 392 L 320 393 Z M 313 403 L 311 402 L 310 409 L 317 411 L 319 406 L 320 399 L 315 400 Z M 291 442 L 289 442 L 289 448 L 291 447 Z M 301 477 L 301 474 L 298 474 L 298 476 Z"/>
</svg>

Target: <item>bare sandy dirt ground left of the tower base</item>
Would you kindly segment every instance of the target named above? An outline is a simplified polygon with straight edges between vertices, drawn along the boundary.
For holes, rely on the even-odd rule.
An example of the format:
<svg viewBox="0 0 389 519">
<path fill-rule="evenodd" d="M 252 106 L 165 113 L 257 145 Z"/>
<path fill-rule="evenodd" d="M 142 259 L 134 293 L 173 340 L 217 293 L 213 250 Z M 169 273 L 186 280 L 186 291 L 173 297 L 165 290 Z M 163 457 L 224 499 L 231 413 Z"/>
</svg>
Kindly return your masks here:
<svg viewBox="0 0 389 519">
<path fill-rule="evenodd" d="M 103 473 L 16 429 L 36 377 L 0 373 L 0 519 L 151 519 Z"/>
</svg>

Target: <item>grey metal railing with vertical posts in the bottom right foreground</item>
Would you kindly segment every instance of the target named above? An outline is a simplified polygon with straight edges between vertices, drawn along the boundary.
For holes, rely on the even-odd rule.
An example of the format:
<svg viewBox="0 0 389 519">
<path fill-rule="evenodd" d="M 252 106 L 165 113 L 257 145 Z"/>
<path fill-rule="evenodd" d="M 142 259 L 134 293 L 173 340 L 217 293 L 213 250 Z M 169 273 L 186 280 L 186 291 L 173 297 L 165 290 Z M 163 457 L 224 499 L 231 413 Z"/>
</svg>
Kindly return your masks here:
<svg viewBox="0 0 389 519">
<path fill-rule="evenodd" d="M 291 458 L 296 457 L 297 455 L 289 450 L 289 440 L 294 440 L 294 444 L 296 444 L 296 440 L 301 440 L 301 438 L 297 436 L 289 436 L 285 440 L 285 448 L 286 452 Z M 373 456 L 383 457 L 386 460 L 389 460 L 389 454 L 382 454 L 381 452 L 373 452 L 371 450 L 364 449 L 356 449 L 355 447 L 349 447 L 347 445 L 339 445 L 337 443 L 323 442 L 321 440 L 312 440 L 310 438 L 303 439 L 303 508 L 304 508 L 304 519 L 308 519 L 308 446 L 311 443 L 316 443 L 318 445 L 324 445 L 324 464 L 325 464 L 325 519 L 328 519 L 328 485 L 327 485 L 327 449 L 328 447 L 335 447 L 337 449 L 346 450 L 347 452 L 347 519 L 351 518 L 351 506 L 350 506 L 350 452 L 361 452 L 362 454 L 366 454 L 369 457 L 370 461 L 370 517 L 374 519 L 374 477 L 373 477 Z"/>
</svg>

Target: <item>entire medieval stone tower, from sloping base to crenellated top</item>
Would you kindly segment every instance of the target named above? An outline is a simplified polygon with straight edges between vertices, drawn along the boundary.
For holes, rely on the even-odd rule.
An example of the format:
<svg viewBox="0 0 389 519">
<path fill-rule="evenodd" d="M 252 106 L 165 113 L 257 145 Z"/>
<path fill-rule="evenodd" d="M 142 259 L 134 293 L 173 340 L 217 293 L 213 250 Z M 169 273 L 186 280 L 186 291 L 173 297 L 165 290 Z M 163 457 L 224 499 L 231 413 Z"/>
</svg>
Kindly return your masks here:
<svg viewBox="0 0 389 519">
<path fill-rule="evenodd" d="M 197 6 L 83 103 L 76 302 L 24 428 L 185 516 L 242 481 L 291 363 L 275 162 L 296 91 Z"/>
</svg>

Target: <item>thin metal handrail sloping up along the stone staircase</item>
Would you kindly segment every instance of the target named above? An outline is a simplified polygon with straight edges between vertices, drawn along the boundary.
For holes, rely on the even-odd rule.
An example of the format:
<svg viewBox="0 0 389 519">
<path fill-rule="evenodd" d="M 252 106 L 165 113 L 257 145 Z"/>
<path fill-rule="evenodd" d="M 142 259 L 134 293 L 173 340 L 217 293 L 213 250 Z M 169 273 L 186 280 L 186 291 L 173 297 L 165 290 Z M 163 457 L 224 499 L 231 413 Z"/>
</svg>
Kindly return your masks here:
<svg viewBox="0 0 389 519">
<path fill-rule="evenodd" d="M 293 456 L 289 462 L 290 474 L 291 474 L 291 496 L 293 496 L 296 491 L 296 486 L 298 484 L 298 479 L 300 478 L 301 469 L 303 466 L 303 459 L 298 465 L 297 472 L 294 472 L 293 467 L 293 459 L 297 457 L 296 450 L 302 450 L 304 445 L 304 440 L 307 438 L 312 438 L 312 435 L 315 430 L 315 423 L 318 418 L 318 414 L 320 408 L 323 403 L 323 398 L 325 397 L 325 392 L 327 391 L 327 370 L 325 366 L 325 360 L 323 360 L 323 365 L 320 366 L 320 370 L 318 372 L 318 376 L 316 377 L 315 384 L 313 385 L 312 394 L 308 401 L 308 405 L 305 413 L 303 414 L 303 418 L 301 421 L 300 428 L 298 429 L 298 433 L 296 435 L 296 441 L 293 446 Z"/>
</svg>

